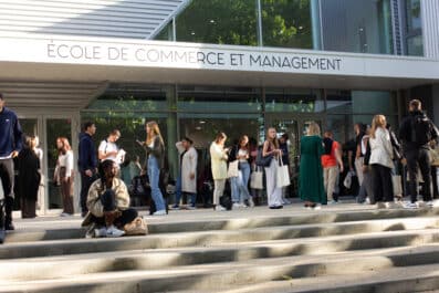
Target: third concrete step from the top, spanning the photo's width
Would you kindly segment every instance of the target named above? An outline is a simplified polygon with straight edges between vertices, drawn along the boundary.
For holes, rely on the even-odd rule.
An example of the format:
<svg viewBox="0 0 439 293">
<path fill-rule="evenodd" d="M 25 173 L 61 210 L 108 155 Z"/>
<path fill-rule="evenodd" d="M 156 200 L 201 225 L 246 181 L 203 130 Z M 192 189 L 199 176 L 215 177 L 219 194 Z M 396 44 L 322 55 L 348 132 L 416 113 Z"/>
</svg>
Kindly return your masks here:
<svg viewBox="0 0 439 293">
<path fill-rule="evenodd" d="M 70 274 L 103 271 L 159 270 L 185 265 L 242 262 L 254 259 L 354 253 L 370 249 L 401 249 L 409 245 L 439 245 L 439 231 L 416 230 L 333 236 L 282 241 L 219 243 L 210 248 L 148 249 L 103 253 L 70 254 L 64 257 L 10 259 L 0 261 L 0 275 L 8 280 L 62 278 Z M 437 245 L 431 245 L 436 251 Z M 439 254 L 439 253 L 438 253 Z M 438 255 L 439 257 L 439 255 Z"/>
</svg>

